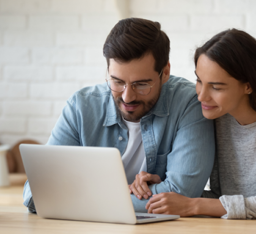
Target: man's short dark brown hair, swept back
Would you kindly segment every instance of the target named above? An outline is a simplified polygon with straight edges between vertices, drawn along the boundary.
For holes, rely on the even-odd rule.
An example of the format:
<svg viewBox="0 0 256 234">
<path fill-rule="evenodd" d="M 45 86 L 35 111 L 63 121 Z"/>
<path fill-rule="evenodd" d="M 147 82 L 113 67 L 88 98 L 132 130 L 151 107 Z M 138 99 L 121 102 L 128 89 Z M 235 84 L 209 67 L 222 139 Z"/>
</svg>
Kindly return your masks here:
<svg viewBox="0 0 256 234">
<path fill-rule="evenodd" d="M 159 74 L 169 61 L 170 40 L 161 31 L 161 25 L 141 18 L 120 20 L 110 31 L 103 46 L 103 55 L 116 62 L 129 62 L 152 53 L 155 59 L 155 71 Z"/>
</svg>

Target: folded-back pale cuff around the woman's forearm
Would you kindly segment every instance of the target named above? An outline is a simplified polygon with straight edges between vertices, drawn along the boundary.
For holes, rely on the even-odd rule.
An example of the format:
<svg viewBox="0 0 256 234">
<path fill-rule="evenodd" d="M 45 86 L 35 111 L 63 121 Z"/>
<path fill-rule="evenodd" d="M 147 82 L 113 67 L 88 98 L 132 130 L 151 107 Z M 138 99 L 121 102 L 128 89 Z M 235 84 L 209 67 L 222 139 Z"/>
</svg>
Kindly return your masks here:
<svg viewBox="0 0 256 234">
<path fill-rule="evenodd" d="M 222 206 L 227 210 L 227 214 L 221 218 L 246 219 L 245 200 L 243 195 L 223 195 L 219 200 Z"/>
</svg>

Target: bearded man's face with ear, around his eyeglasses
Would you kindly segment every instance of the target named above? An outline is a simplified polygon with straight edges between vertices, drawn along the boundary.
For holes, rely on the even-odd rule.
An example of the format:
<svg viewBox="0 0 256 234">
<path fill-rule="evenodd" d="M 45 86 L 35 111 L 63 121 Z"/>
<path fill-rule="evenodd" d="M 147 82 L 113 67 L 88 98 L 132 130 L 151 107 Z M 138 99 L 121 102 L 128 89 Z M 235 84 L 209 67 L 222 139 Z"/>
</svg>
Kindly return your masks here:
<svg viewBox="0 0 256 234">
<path fill-rule="evenodd" d="M 119 108 L 122 117 L 131 122 L 138 122 L 150 111 L 157 102 L 163 83 L 170 74 L 170 64 L 163 68 L 162 81 L 158 72 L 155 71 L 155 59 L 151 53 L 139 60 L 118 63 L 110 59 L 109 78 L 117 78 L 127 84 L 135 82 L 148 83 L 151 91 L 148 95 L 139 95 L 128 85 L 122 92 L 112 91 L 115 103 Z"/>
</svg>

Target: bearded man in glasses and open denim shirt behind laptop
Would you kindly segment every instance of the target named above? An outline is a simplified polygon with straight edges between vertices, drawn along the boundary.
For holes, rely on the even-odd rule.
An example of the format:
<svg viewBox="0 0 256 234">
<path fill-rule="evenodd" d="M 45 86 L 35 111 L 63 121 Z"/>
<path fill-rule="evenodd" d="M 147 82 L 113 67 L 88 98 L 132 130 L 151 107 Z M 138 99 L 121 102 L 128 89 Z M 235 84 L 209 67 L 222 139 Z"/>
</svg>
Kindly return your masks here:
<svg viewBox="0 0 256 234">
<path fill-rule="evenodd" d="M 107 82 L 68 99 L 47 143 L 117 147 L 137 212 L 152 193 L 200 197 L 213 165 L 213 123 L 194 84 L 170 76 L 169 51 L 158 22 L 120 20 L 103 47 Z M 35 211 L 28 182 L 24 200 Z"/>
</svg>

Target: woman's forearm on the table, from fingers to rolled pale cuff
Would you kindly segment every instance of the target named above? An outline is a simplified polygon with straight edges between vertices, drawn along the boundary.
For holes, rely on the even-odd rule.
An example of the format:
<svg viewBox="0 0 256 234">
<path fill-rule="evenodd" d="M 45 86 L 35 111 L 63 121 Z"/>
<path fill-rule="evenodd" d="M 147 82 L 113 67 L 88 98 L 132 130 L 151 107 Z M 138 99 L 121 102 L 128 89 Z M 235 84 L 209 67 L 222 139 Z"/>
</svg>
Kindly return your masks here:
<svg viewBox="0 0 256 234">
<path fill-rule="evenodd" d="M 221 196 L 219 199 L 187 198 L 175 192 L 153 195 L 146 204 L 148 213 L 191 217 L 206 215 L 228 219 L 256 219 L 256 196 Z"/>
</svg>

